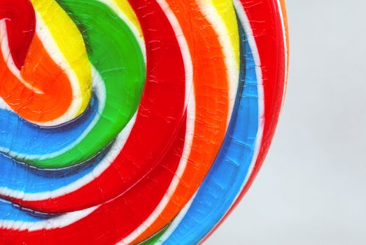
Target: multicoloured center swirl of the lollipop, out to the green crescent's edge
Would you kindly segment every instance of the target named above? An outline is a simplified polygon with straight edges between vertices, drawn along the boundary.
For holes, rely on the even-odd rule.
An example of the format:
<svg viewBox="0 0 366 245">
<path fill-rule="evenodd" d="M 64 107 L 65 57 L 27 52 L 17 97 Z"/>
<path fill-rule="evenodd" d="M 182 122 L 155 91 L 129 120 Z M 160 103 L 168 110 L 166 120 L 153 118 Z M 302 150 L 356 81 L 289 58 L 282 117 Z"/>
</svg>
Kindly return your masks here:
<svg viewBox="0 0 366 245">
<path fill-rule="evenodd" d="M 0 96 L 19 116 L 16 137 L 0 141 L 3 153 L 38 168 L 78 165 L 133 118 L 146 78 L 144 47 L 116 2 L 1 3 Z"/>
</svg>

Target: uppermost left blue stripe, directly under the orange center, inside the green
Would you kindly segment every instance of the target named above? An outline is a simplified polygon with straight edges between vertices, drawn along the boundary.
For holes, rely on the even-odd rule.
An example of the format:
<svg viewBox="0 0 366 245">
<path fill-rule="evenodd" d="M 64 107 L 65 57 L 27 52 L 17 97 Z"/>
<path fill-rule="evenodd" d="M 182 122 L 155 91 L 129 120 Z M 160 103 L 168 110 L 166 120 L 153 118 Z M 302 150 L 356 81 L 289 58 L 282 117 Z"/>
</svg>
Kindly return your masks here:
<svg viewBox="0 0 366 245">
<path fill-rule="evenodd" d="M 92 103 L 83 116 L 62 127 L 47 128 L 28 123 L 8 110 L 0 111 L 0 146 L 5 153 L 22 155 L 45 155 L 55 153 L 70 144 L 85 132 L 98 113 L 98 100 Z M 47 146 L 47 147 L 45 147 Z"/>
</svg>

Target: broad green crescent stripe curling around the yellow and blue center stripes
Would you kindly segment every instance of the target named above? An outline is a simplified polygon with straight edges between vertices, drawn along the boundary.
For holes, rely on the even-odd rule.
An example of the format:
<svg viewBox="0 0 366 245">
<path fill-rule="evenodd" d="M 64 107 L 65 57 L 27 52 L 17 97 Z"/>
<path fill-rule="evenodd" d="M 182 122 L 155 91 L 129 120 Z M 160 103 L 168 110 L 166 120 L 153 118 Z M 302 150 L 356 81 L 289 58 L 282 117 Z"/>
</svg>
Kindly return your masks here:
<svg viewBox="0 0 366 245">
<path fill-rule="evenodd" d="M 111 8 L 94 0 L 57 1 L 83 34 L 90 62 L 104 81 L 106 103 L 96 125 L 79 144 L 54 158 L 29 160 L 29 165 L 41 168 L 76 165 L 108 146 L 134 116 L 146 79 L 141 47 Z"/>
</svg>

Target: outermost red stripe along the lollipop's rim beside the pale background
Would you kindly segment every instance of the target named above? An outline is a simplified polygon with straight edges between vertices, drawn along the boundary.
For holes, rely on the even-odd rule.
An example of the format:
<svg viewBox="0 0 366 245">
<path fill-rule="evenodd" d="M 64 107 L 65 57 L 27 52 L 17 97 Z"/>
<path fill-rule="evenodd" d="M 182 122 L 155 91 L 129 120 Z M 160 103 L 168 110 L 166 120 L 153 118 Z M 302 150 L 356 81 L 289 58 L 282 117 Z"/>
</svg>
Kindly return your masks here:
<svg viewBox="0 0 366 245">
<path fill-rule="evenodd" d="M 206 239 L 225 221 L 227 216 L 237 207 L 257 176 L 262 162 L 265 160 L 281 111 L 283 90 L 286 81 L 286 50 L 283 39 L 283 23 L 281 9 L 276 0 L 241 0 L 251 24 L 255 43 L 258 47 L 262 67 L 262 82 L 265 90 L 265 125 L 258 159 L 248 182 L 239 197 L 220 223 L 211 230 Z M 260 21 L 259 21 L 260 20 Z"/>
</svg>

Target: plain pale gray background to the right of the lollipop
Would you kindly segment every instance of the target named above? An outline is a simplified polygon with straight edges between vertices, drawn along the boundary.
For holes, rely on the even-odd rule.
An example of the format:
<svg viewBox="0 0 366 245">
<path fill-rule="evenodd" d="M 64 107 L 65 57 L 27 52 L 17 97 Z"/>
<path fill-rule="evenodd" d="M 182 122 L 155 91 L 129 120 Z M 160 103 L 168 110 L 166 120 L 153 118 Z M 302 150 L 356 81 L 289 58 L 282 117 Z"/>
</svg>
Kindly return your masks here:
<svg viewBox="0 0 366 245">
<path fill-rule="evenodd" d="M 290 78 L 272 148 L 206 244 L 366 244 L 366 1 L 287 6 Z"/>
</svg>

